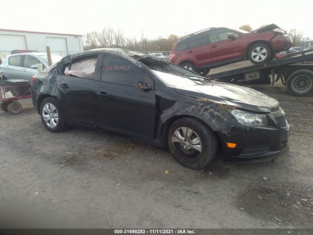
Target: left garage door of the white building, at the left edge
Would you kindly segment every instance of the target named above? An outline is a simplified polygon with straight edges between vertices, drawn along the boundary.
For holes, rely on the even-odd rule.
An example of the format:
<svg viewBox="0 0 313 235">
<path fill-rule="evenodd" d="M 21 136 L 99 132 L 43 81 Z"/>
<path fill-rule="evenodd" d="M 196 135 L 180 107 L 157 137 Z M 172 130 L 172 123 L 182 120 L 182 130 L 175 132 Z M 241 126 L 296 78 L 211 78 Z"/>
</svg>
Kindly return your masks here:
<svg viewBox="0 0 313 235">
<path fill-rule="evenodd" d="M 0 34 L 0 55 L 9 55 L 15 49 L 27 49 L 25 36 Z"/>
</svg>

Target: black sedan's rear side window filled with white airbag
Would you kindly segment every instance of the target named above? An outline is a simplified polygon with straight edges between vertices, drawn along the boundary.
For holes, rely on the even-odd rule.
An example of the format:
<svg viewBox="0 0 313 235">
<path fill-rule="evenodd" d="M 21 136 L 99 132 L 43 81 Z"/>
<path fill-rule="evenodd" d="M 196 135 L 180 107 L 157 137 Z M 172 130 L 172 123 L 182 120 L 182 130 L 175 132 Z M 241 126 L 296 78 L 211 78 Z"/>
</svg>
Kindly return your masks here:
<svg viewBox="0 0 313 235">
<path fill-rule="evenodd" d="M 72 60 L 71 65 L 69 63 L 65 64 L 62 70 L 64 69 L 64 74 L 67 76 L 93 78 L 97 60 L 98 55 L 84 56 Z"/>
</svg>

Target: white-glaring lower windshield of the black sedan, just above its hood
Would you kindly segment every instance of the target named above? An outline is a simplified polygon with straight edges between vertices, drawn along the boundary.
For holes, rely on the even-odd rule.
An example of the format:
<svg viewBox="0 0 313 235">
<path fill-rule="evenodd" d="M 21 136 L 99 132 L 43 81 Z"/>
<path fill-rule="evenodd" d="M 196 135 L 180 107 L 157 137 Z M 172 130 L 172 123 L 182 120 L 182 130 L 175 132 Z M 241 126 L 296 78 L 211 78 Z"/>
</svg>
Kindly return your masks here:
<svg viewBox="0 0 313 235">
<path fill-rule="evenodd" d="M 208 82 L 201 76 L 176 76 L 171 73 L 166 72 L 160 72 L 156 70 L 152 70 L 159 78 L 160 80 L 168 87 L 177 87 L 177 88 L 183 88 L 186 86 L 194 86 L 199 84 L 204 84 Z"/>
</svg>

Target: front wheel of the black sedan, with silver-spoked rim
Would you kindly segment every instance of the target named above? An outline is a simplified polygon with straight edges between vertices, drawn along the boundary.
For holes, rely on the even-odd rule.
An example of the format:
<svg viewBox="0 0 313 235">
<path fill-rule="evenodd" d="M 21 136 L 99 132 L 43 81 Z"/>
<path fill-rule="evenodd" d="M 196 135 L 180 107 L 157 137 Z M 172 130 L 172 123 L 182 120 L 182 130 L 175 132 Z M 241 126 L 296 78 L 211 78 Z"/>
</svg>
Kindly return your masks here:
<svg viewBox="0 0 313 235">
<path fill-rule="evenodd" d="M 176 161 L 191 169 L 206 167 L 215 159 L 218 149 L 216 134 L 197 118 L 175 121 L 168 131 L 167 144 Z"/>
</svg>

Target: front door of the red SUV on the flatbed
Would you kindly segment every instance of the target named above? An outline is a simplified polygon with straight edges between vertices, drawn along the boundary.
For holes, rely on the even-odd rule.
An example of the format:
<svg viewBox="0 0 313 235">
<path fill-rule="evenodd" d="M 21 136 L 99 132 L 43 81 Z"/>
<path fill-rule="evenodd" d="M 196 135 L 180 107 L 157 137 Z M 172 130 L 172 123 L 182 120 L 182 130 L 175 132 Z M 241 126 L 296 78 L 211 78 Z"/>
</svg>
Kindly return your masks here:
<svg viewBox="0 0 313 235">
<path fill-rule="evenodd" d="M 233 33 L 235 39 L 228 39 L 227 34 Z M 228 28 L 209 31 L 211 63 L 236 60 L 244 56 L 244 44 L 240 35 Z"/>
</svg>

